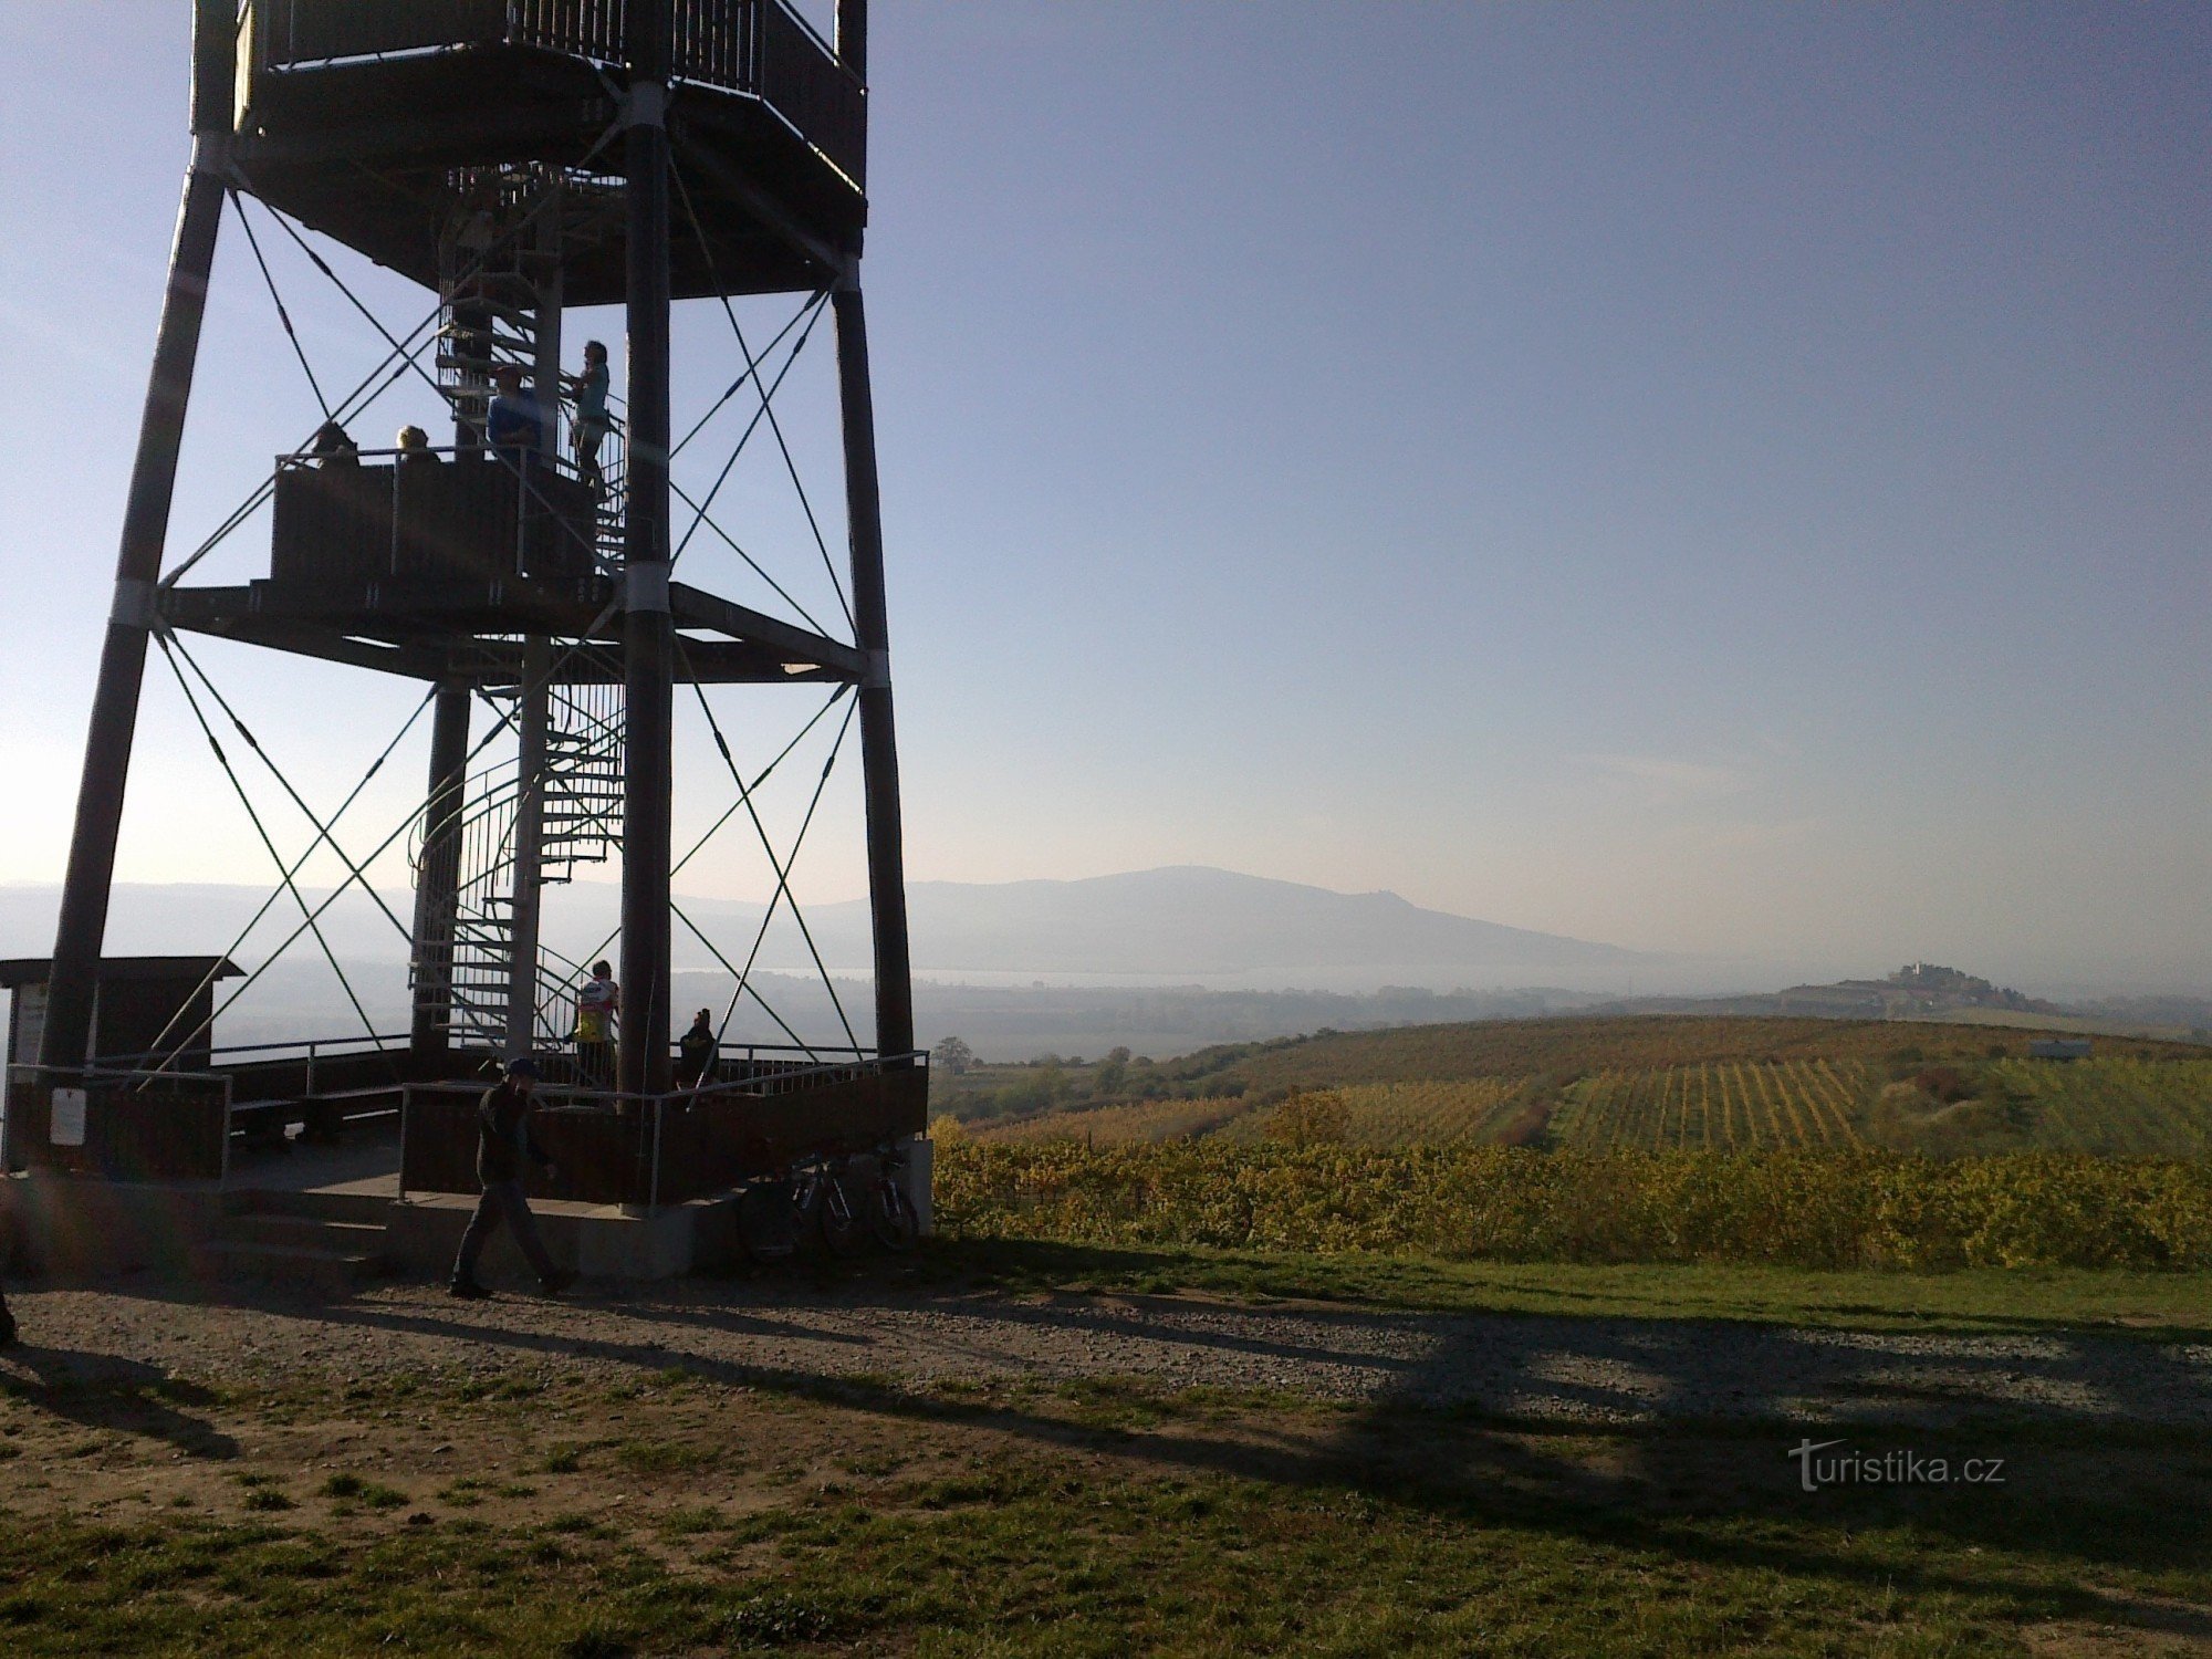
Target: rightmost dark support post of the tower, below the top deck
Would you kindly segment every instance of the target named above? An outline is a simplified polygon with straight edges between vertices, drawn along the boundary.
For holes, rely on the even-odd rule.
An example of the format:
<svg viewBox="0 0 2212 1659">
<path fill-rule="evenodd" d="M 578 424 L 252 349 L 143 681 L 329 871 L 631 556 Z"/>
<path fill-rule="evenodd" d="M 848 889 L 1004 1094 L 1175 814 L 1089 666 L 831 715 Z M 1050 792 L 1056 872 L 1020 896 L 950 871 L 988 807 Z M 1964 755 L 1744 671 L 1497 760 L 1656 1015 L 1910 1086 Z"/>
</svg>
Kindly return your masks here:
<svg viewBox="0 0 2212 1659">
<path fill-rule="evenodd" d="M 838 405 L 845 425 L 854 641 L 867 657 L 867 677 L 860 681 L 860 774 L 867 792 L 867 902 L 876 936 L 876 1053 L 900 1055 L 914 1048 L 914 967 L 907 949 L 907 865 L 898 827 L 891 626 L 883 595 L 876 403 L 867 387 L 867 312 L 860 305 L 860 285 L 847 281 L 830 303 L 836 314 Z"/>
</svg>

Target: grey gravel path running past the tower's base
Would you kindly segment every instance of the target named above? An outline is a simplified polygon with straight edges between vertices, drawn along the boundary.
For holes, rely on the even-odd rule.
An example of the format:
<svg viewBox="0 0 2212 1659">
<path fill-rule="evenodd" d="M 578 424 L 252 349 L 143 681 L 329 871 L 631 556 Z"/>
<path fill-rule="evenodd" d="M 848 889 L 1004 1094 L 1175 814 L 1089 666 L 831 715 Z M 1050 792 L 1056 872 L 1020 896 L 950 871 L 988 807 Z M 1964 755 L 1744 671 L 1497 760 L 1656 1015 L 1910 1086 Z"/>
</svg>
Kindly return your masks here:
<svg viewBox="0 0 2212 1659">
<path fill-rule="evenodd" d="M 27 1290 L 0 1369 L 352 1380 L 398 1371 L 617 1380 L 670 1365 L 732 1383 L 900 1385 L 1133 1376 L 1157 1387 L 1467 1405 L 1590 1422 L 2035 1416 L 2212 1422 L 2212 1347 L 1916 1336 L 1635 1318 L 1394 1314 L 1192 1296 L 1013 1298 L 679 1281 L 568 1303 L 453 1303 L 427 1285 L 343 1301 L 161 1281 Z"/>
</svg>

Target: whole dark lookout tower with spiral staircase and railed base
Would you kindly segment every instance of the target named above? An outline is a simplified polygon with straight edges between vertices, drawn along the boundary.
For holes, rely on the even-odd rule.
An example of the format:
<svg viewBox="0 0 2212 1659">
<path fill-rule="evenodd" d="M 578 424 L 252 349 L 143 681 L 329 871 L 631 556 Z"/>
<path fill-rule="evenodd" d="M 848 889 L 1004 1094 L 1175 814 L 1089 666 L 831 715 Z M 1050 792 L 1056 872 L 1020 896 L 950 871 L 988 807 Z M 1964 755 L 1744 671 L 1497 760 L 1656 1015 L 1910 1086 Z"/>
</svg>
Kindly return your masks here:
<svg viewBox="0 0 2212 1659">
<path fill-rule="evenodd" d="M 557 1020 L 573 978 L 542 958 L 540 889 L 593 858 L 622 867 L 622 1018 L 611 1075 L 562 1082 L 575 1084 L 575 1135 L 615 1137 L 624 1157 L 580 1159 L 599 1170 L 599 1188 L 577 1197 L 639 1199 L 650 1161 L 650 1197 L 666 1201 L 922 1126 L 860 301 L 865 184 L 867 0 L 836 0 L 832 38 L 785 0 L 195 0 L 192 161 L 131 473 L 42 1044 L 35 1066 L 11 1073 L 18 1161 L 35 1146 L 33 1164 L 84 1175 L 210 1175 L 221 1159 L 206 1146 L 177 1155 L 177 1168 L 155 1168 L 170 1157 L 159 1148 L 173 1133 L 124 1146 L 128 1126 L 157 1110 L 153 1097 L 177 1095 L 188 1073 L 195 1099 L 208 1097 L 215 1073 L 230 1113 L 383 1088 L 431 1102 L 449 1086 L 458 1102 L 460 1086 L 500 1055 L 544 1048 L 566 1029 Z M 310 237 L 434 296 L 414 334 L 354 305 L 392 345 L 372 380 L 434 383 L 449 422 L 427 445 L 396 451 L 303 434 L 254 495 L 254 511 L 268 509 L 268 575 L 210 586 L 188 580 L 197 555 L 168 557 L 170 495 L 217 232 L 226 204 L 237 204 L 252 234 L 248 201 L 334 281 Z M 252 257 L 268 276 L 259 241 Z M 836 341 L 849 549 L 843 571 L 827 546 L 823 562 L 845 602 L 843 635 L 672 573 L 706 507 L 672 535 L 681 489 L 670 456 L 686 438 L 672 429 L 670 312 L 677 301 L 723 301 L 734 330 L 728 301 L 765 294 L 794 296 L 801 316 L 832 323 Z M 617 303 L 626 369 L 611 387 L 604 445 L 584 456 L 573 442 L 582 409 L 562 416 L 562 316 Z M 774 345 L 754 354 L 741 330 L 737 343 L 737 380 L 750 383 L 743 396 L 772 427 Z M 577 345 L 571 332 L 571 365 Z M 535 427 L 520 438 L 511 420 L 502 429 L 502 398 L 509 416 L 533 409 Z M 323 407 L 327 434 L 361 405 Z M 208 1057 L 206 1022 L 195 1031 L 190 1020 L 173 1020 L 153 1051 L 95 1053 L 142 679 L 155 650 L 181 650 L 195 635 L 422 686 L 431 757 L 407 843 L 414 909 L 396 922 L 409 933 L 411 1029 L 325 1055 L 321 1071 L 312 1055 L 305 1073 L 296 1055 L 226 1068 L 219 1053 Z M 847 714 L 856 708 L 874 1037 L 830 1060 L 717 1051 L 706 1077 L 684 1079 L 679 1137 L 659 1113 L 679 1097 L 675 703 L 692 688 L 706 708 L 708 686 L 794 681 L 849 697 Z M 493 739 L 513 759 L 507 781 L 480 794 L 469 761 Z M 743 794 L 743 779 L 737 787 Z M 157 1053 L 168 1048 L 188 1060 Z M 161 1086 L 148 1091 L 148 1079 Z M 64 1146 L 58 1097 L 71 1124 L 66 1155 L 55 1150 Z M 431 1104 L 416 1113 L 420 1124 L 442 1121 Z M 597 1126 L 582 1121 L 591 1113 Z M 458 1146 L 462 1119 L 451 1121 Z M 232 1130 L 223 1119 L 221 1133 Z M 425 1144 L 420 1157 L 414 1141 L 407 1148 L 422 1170 L 453 1157 L 451 1146 Z"/>
</svg>

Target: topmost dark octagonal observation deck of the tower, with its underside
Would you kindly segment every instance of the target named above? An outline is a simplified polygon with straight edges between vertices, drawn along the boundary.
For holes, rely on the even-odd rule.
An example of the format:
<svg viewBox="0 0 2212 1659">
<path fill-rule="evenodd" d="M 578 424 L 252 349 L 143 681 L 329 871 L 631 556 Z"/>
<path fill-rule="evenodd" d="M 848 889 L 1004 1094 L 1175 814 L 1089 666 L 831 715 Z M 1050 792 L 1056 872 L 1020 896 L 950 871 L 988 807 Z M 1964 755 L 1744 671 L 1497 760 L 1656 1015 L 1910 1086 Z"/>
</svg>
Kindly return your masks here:
<svg viewBox="0 0 2212 1659">
<path fill-rule="evenodd" d="M 867 88 L 783 0 L 248 0 L 243 184 L 436 285 L 484 168 L 564 168 L 566 303 L 619 301 L 630 4 L 668 11 L 675 296 L 825 288 L 867 221 Z"/>
</svg>

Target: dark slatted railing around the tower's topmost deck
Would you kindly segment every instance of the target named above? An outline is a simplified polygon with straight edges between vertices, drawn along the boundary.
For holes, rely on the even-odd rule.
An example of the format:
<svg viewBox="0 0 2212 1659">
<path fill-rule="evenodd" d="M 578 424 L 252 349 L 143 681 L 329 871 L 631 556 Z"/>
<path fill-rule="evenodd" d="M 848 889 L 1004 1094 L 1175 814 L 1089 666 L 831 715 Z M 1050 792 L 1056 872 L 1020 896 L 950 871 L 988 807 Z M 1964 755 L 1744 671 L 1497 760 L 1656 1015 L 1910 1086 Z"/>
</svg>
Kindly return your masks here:
<svg viewBox="0 0 2212 1659">
<path fill-rule="evenodd" d="M 254 71 L 453 46 L 535 46 L 599 66 L 624 60 L 639 0 L 250 0 Z M 783 0 L 661 0 L 679 82 L 761 100 L 856 186 L 867 170 L 867 86 Z"/>
</svg>

